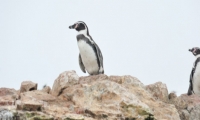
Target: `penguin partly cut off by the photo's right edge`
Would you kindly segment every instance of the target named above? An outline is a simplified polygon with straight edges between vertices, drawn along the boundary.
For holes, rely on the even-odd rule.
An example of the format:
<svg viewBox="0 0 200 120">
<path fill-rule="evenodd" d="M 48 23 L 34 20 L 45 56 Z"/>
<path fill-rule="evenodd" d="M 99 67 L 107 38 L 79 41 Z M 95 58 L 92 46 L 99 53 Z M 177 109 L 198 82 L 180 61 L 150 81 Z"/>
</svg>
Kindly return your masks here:
<svg viewBox="0 0 200 120">
<path fill-rule="evenodd" d="M 192 52 L 192 54 L 196 57 L 196 60 L 190 74 L 190 85 L 187 94 L 200 95 L 200 48 L 194 47 L 189 49 L 189 51 Z"/>
</svg>

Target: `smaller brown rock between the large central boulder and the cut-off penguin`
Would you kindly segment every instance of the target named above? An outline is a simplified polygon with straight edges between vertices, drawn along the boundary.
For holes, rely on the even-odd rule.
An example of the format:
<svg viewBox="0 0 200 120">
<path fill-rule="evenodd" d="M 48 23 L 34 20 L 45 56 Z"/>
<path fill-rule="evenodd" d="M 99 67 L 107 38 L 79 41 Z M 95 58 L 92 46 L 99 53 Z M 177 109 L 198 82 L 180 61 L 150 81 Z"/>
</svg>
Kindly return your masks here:
<svg viewBox="0 0 200 120">
<path fill-rule="evenodd" d="M 147 85 L 146 89 L 149 90 L 156 99 L 168 102 L 168 90 L 166 84 L 162 82 L 156 82 L 154 84 Z"/>
</svg>

